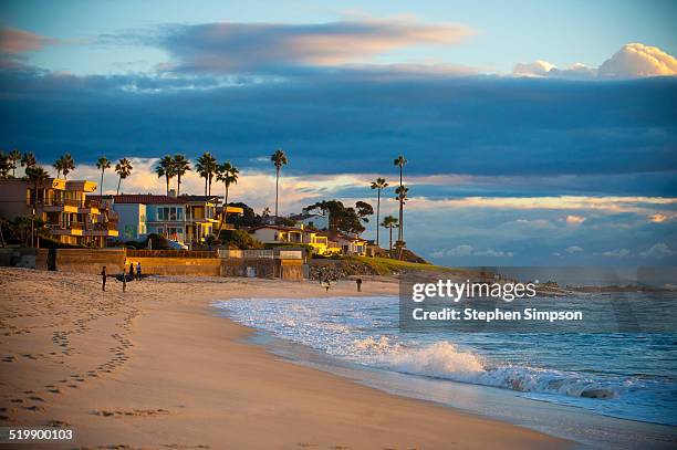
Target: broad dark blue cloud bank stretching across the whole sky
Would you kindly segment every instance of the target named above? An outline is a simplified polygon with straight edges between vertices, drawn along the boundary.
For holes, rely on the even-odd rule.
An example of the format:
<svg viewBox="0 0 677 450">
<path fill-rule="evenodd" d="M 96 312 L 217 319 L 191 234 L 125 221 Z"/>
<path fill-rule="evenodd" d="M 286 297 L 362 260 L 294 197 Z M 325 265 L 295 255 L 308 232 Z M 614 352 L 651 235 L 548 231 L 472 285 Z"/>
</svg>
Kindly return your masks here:
<svg viewBox="0 0 677 450">
<path fill-rule="evenodd" d="M 665 195 L 676 185 L 671 79 L 357 81 L 319 72 L 283 82 L 4 71 L 0 87 L 0 145 L 45 160 L 66 150 L 84 160 L 210 150 L 256 168 L 268 164 L 257 157 L 281 147 L 298 174 L 388 174 L 402 151 L 409 175 L 518 177 L 507 190 L 529 190 L 519 177 L 541 177 L 533 186 L 549 192 Z"/>
</svg>

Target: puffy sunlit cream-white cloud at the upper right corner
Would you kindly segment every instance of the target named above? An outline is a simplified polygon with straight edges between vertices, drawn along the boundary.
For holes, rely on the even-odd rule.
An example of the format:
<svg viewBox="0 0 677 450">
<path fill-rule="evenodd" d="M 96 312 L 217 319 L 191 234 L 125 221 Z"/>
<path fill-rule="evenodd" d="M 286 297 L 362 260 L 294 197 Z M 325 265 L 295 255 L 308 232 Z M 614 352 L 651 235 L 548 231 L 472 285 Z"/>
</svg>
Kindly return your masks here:
<svg viewBox="0 0 677 450">
<path fill-rule="evenodd" d="M 645 76 L 677 75 L 677 60 L 656 46 L 640 43 L 623 45 L 598 69 L 575 63 L 560 69 L 543 60 L 515 64 L 515 76 L 559 77 L 559 79 L 637 79 Z"/>
</svg>

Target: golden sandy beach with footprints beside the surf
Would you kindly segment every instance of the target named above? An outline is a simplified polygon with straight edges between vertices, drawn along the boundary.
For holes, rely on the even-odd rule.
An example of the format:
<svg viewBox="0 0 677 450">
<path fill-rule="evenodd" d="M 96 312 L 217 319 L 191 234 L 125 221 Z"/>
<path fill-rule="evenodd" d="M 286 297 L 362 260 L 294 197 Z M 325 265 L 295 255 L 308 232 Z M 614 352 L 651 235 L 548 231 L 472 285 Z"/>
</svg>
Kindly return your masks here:
<svg viewBox="0 0 677 450">
<path fill-rule="evenodd" d="M 0 269 L 2 425 L 74 428 L 82 448 L 553 449 L 565 441 L 281 360 L 215 314 L 315 283 L 100 278 Z M 363 295 L 394 294 L 368 281 Z M 45 448 L 55 448 L 50 444 Z M 72 444 L 64 448 L 72 448 Z"/>
</svg>

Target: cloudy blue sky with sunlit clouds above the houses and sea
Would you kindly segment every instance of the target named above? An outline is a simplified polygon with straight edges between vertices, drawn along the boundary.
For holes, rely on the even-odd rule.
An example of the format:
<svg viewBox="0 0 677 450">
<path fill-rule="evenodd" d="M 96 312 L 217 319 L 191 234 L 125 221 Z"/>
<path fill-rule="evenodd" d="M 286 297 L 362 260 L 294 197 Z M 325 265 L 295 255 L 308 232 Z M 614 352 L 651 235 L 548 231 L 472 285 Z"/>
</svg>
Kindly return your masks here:
<svg viewBox="0 0 677 450">
<path fill-rule="evenodd" d="M 283 148 L 284 212 L 373 199 L 403 153 L 405 238 L 431 261 L 675 264 L 676 19 L 673 1 L 3 1 L 0 148 L 72 153 L 90 178 L 133 158 L 125 192 L 209 150 L 259 210 Z"/>
</svg>

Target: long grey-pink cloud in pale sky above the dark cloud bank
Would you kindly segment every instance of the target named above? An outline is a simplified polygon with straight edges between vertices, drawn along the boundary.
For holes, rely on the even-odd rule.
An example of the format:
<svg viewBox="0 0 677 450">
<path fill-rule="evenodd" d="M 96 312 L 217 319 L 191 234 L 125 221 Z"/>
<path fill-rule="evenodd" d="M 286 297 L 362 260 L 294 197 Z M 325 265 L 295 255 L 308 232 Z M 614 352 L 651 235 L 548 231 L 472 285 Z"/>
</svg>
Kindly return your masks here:
<svg viewBox="0 0 677 450">
<path fill-rule="evenodd" d="M 459 24 L 368 19 L 317 24 L 166 25 L 155 39 L 140 41 L 171 54 L 175 62 L 167 70 L 260 73 L 287 66 L 336 66 L 418 44 L 454 44 L 469 34 L 471 30 Z"/>
</svg>

